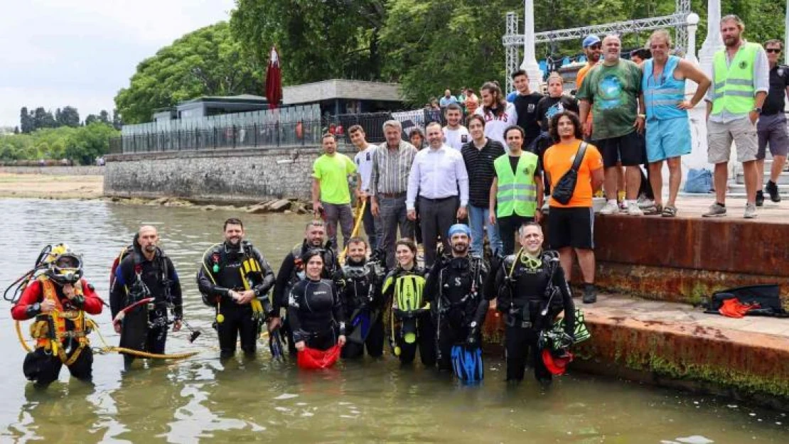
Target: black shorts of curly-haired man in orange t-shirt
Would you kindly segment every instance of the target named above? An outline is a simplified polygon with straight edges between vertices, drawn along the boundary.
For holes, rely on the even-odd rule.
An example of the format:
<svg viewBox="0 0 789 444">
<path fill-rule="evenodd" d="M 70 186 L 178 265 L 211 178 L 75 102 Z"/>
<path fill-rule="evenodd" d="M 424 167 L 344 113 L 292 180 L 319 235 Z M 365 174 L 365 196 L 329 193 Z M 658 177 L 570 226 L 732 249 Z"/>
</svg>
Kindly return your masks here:
<svg viewBox="0 0 789 444">
<path fill-rule="evenodd" d="M 553 249 L 594 249 L 594 209 L 551 207 L 548 213 L 548 244 Z"/>
</svg>

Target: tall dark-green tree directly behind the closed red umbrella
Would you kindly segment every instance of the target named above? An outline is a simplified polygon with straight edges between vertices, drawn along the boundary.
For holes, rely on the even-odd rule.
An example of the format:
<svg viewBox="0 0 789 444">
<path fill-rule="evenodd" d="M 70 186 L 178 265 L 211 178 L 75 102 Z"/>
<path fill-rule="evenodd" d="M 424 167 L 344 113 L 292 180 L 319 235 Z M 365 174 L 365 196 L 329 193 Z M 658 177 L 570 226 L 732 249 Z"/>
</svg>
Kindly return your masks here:
<svg viewBox="0 0 789 444">
<path fill-rule="evenodd" d="M 237 0 L 230 26 L 260 65 L 277 46 L 284 84 L 379 80 L 386 15 L 386 0 Z"/>
</svg>

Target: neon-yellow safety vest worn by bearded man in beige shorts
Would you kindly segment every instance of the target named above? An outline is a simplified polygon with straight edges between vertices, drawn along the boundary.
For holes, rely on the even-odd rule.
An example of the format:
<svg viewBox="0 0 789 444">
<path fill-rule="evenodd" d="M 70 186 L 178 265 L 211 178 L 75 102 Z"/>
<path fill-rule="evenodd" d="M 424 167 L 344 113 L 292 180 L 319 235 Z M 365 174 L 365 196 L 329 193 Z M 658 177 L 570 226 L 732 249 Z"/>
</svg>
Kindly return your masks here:
<svg viewBox="0 0 789 444">
<path fill-rule="evenodd" d="M 753 84 L 753 64 L 756 62 L 757 43 L 742 43 L 731 65 L 726 63 L 726 50 L 715 53 L 712 66 L 715 79 L 712 85 L 712 114 L 727 110 L 731 114 L 748 114 L 756 104 Z"/>
</svg>

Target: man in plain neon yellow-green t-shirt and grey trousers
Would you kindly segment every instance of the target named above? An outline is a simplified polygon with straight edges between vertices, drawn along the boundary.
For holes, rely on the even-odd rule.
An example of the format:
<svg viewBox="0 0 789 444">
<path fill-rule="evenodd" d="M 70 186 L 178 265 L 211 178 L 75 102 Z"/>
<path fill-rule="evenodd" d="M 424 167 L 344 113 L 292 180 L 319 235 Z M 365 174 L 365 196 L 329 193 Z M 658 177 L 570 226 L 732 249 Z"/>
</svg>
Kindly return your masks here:
<svg viewBox="0 0 789 444">
<path fill-rule="evenodd" d="M 323 155 L 312 163 L 312 209 L 316 217 L 320 216 L 326 222 L 326 234 L 335 246 L 337 222 L 340 223 L 342 244 L 345 245 L 353 231 L 348 176 L 356 173 L 356 164 L 337 152 L 334 134 L 324 134 L 321 143 Z"/>
</svg>

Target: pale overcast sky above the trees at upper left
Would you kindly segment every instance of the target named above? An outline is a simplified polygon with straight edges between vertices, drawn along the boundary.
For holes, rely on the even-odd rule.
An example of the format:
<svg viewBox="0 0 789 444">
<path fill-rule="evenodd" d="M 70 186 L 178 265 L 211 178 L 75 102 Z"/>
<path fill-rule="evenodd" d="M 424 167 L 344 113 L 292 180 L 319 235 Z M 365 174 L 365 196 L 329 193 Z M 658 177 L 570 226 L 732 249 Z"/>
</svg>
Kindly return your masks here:
<svg viewBox="0 0 789 444">
<path fill-rule="evenodd" d="M 233 0 L 0 0 L 0 126 L 19 110 L 112 112 L 137 63 L 181 35 L 228 20 Z M 13 5 L 13 6 L 12 6 Z"/>
</svg>

